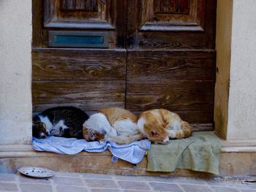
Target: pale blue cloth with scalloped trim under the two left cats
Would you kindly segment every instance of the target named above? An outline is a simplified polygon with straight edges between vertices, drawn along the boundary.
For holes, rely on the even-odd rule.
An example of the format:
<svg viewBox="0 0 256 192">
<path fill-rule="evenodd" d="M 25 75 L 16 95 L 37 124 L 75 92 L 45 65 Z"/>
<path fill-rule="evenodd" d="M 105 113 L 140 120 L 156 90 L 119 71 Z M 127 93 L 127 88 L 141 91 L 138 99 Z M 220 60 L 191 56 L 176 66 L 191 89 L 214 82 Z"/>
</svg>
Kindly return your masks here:
<svg viewBox="0 0 256 192">
<path fill-rule="evenodd" d="M 38 151 L 48 151 L 61 154 L 74 155 L 82 150 L 87 152 L 102 152 L 110 150 L 117 158 L 138 164 L 143 160 L 146 150 L 150 148 L 150 141 L 147 139 L 132 142 L 128 145 L 117 145 L 115 142 L 87 142 L 85 139 L 48 137 L 37 139 L 33 137 L 32 147 Z"/>
</svg>

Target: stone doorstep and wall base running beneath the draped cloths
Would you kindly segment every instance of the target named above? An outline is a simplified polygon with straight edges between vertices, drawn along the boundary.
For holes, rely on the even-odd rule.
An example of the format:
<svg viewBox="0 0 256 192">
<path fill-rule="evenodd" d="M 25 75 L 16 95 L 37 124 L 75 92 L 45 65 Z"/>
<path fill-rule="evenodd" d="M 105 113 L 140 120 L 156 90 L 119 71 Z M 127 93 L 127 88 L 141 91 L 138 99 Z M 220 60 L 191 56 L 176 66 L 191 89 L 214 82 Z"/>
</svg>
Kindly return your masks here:
<svg viewBox="0 0 256 192">
<path fill-rule="evenodd" d="M 21 166 L 44 166 L 59 172 L 87 172 L 124 175 L 176 175 L 208 177 L 211 174 L 177 169 L 175 172 L 147 172 L 147 159 L 137 166 L 126 161 L 111 162 L 112 154 L 81 152 L 77 155 L 37 152 L 31 145 L 0 145 L 0 172 L 17 172 Z M 227 175 L 256 175 L 256 142 L 222 141 L 219 172 Z"/>
</svg>

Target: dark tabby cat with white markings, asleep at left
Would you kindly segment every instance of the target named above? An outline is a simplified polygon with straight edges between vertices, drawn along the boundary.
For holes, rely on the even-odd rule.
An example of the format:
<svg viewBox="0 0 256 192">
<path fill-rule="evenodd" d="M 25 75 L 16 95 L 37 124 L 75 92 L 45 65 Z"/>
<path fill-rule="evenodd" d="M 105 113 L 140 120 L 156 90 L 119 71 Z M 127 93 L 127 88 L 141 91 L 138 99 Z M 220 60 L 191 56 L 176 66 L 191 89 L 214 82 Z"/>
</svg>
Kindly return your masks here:
<svg viewBox="0 0 256 192">
<path fill-rule="evenodd" d="M 88 119 L 86 112 L 76 107 L 53 107 L 33 118 L 33 137 L 83 138 L 83 123 Z"/>
</svg>

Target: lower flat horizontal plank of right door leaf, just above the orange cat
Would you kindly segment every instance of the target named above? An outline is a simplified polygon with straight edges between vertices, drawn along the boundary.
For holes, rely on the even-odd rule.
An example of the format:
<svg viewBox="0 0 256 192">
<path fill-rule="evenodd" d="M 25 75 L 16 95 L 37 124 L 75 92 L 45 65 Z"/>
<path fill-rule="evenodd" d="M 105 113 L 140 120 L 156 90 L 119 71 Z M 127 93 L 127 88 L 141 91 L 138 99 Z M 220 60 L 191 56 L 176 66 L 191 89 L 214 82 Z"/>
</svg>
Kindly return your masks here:
<svg viewBox="0 0 256 192">
<path fill-rule="evenodd" d="M 214 81 L 129 80 L 127 109 L 165 108 L 170 111 L 209 111 L 214 106 Z"/>
</svg>

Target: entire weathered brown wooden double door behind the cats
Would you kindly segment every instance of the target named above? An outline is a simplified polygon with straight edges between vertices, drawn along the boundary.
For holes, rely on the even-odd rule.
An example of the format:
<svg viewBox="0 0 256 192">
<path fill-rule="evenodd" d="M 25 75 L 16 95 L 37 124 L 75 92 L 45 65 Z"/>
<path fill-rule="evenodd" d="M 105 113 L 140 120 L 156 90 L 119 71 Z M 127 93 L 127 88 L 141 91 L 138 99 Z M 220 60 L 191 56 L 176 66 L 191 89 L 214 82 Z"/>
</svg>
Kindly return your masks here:
<svg viewBox="0 0 256 192">
<path fill-rule="evenodd" d="M 33 0 L 33 110 L 163 107 L 214 128 L 217 0 Z"/>
</svg>

